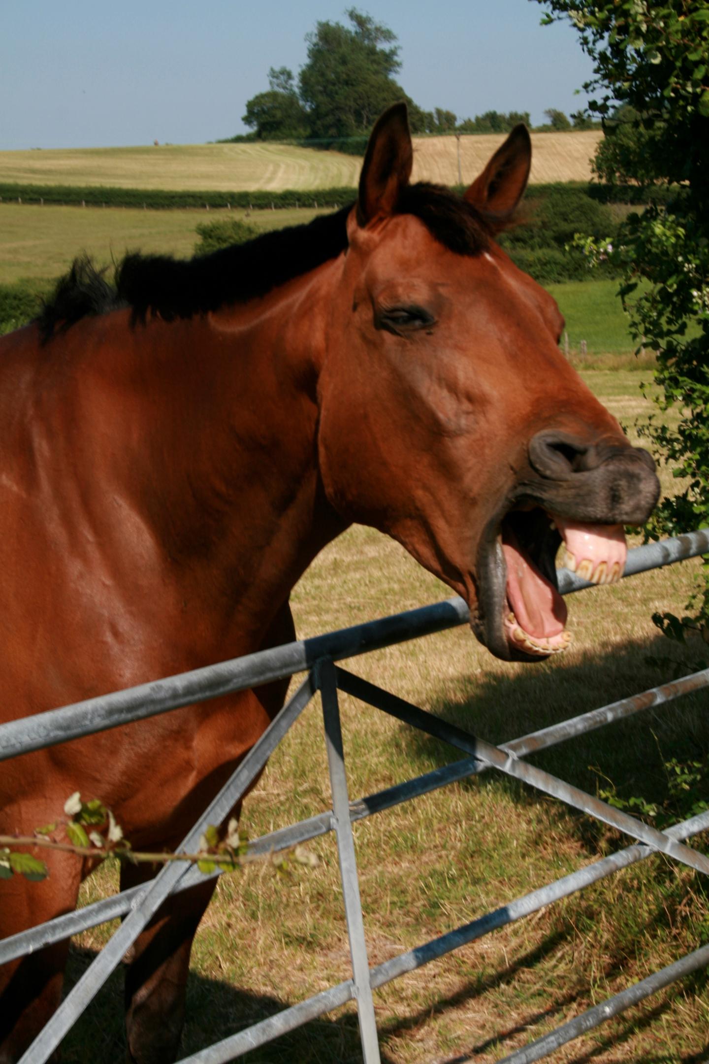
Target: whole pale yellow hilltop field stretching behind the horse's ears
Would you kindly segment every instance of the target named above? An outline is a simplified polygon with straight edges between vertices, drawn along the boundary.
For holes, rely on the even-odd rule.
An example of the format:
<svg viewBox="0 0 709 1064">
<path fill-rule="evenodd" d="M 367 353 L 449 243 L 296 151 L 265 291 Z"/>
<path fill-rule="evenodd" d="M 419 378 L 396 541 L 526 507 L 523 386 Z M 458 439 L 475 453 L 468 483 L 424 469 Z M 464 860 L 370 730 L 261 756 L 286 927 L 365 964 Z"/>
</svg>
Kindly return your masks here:
<svg viewBox="0 0 709 1064">
<path fill-rule="evenodd" d="M 531 181 L 588 181 L 597 130 L 533 133 Z M 504 136 L 460 138 L 463 181 L 483 170 Z M 458 181 L 455 137 L 415 137 L 417 181 Z M 120 188 L 241 189 L 355 187 L 361 159 L 280 144 L 0 151 L 0 181 Z"/>
</svg>

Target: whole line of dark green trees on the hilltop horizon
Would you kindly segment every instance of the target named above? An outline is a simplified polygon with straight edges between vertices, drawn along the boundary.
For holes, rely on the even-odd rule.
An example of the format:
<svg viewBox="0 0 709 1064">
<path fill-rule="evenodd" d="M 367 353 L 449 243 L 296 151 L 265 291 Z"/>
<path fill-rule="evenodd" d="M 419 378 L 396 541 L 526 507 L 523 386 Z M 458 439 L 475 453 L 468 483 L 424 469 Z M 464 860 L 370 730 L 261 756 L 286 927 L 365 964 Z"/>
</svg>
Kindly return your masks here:
<svg viewBox="0 0 709 1064">
<path fill-rule="evenodd" d="M 306 34 L 307 57 L 298 79 L 287 67 L 271 67 L 269 87 L 247 102 L 242 121 L 250 133 L 231 140 L 309 140 L 360 152 L 376 117 L 396 100 L 406 100 L 413 133 L 506 133 L 529 113 L 488 111 L 458 120 L 443 107 L 425 111 L 405 93 L 395 76 L 401 69 L 392 30 L 356 7 L 345 11 L 349 26 L 318 22 Z M 541 129 L 588 129 L 584 112 L 567 117 L 545 112 Z"/>
</svg>

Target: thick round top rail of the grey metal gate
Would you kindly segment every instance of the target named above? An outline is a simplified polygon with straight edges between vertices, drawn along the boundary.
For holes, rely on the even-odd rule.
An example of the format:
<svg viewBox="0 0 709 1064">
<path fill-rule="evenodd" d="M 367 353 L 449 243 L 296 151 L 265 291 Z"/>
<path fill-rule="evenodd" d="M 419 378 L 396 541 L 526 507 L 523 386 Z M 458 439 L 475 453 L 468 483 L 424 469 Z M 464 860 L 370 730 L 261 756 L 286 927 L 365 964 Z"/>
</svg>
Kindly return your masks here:
<svg viewBox="0 0 709 1064">
<path fill-rule="evenodd" d="M 700 529 L 673 539 L 635 548 L 628 552 L 624 575 L 634 576 L 658 565 L 670 565 L 707 552 L 709 530 Z M 565 569 L 559 570 L 558 579 L 563 595 L 590 586 Z M 468 606 L 455 596 L 443 602 L 408 610 L 366 625 L 284 644 L 218 665 L 208 665 L 180 676 L 12 720 L 0 725 L 0 761 L 133 720 L 142 720 L 181 705 L 218 698 L 270 680 L 281 680 L 308 669 L 322 658 L 332 661 L 354 658 L 407 639 L 456 628 L 469 620 Z"/>
</svg>

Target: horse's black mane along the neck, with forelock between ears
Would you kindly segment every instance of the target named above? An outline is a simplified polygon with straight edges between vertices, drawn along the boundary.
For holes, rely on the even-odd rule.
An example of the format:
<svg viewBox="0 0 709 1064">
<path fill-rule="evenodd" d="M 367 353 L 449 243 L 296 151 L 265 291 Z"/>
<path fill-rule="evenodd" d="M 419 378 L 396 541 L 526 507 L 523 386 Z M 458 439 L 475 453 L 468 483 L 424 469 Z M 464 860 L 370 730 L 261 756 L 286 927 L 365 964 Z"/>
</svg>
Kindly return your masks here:
<svg viewBox="0 0 709 1064">
<path fill-rule="evenodd" d="M 155 314 L 170 321 L 264 296 L 347 248 L 351 207 L 193 259 L 129 254 L 116 267 L 114 285 L 88 257 L 77 259 L 45 303 L 39 328 L 49 339 L 81 318 L 121 306 L 131 307 L 139 319 Z M 396 213 L 416 215 L 457 254 L 474 255 L 488 246 L 489 219 L 439 185 L 407 186 Z"/>
</svg>

